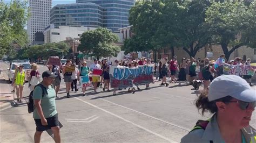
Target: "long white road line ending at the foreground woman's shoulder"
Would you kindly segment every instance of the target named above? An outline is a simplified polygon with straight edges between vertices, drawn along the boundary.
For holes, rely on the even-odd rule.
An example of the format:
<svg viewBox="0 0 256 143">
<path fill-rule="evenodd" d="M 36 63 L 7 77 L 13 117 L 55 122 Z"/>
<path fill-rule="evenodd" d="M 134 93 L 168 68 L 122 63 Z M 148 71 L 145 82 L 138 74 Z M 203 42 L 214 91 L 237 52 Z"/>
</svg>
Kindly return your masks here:
<svg viewBox="0 0 256 143">
<path fill-rule="evenodd" d="M 95 96 L 95 97 L 96 97 L 96 96 Z M 102 98 L 100 98 L 100 99 L 102 99 Z M 106 99 L 102 99 L 102 100 L 103 100 L 103 101 L 106 101 L 106 102 L 109 102 L 109 103 L 111 103 L 111 104 L 114 104 L 114 105 L 120 106 L 120 107 L 122 107 L 122 108 L 125 108 L 125 109 L 128 109 L 128 110 L 131 110 L 131 111 L 133 111 L 133 112 L 139 113 L 139 114 L 144 115 L 144 116 L 146 116 L 146 117 L 150 117 L 150 118 L 152 118 L 152 119 L 155 119 L 155 120 L 161 121 L 161 122 L 163 122 L 163 123 L 165 123 L 165 124 L 168 124 L 168 125 L 171 125 L 171 126 L 177 127 L 177 128 L 179 128 L 179 129 L 181 129 L 181 130 L 184 130 L 184 131 L 190 132 L 190 130 L 189 130 L 188 128 L 184 128 L 184 127 L 181 127 L 181 126 L 178 126 L 178 125 L 174 125 L 174 124 L 172 124 L 172 123 L 170 123 L 170 122 L 168 122 L 168 121 L 165 121 L 165 120 L 162 120 L 162 119 L 159 119 L 159 118 L 156 118 L 156 117 L 153 117 L 153 116 L 147 115 L 147 114 L 145 114 L 145 113 L 139 112 L 139 111 L 134 110 L 134 109 L 127 108 L 126 106 L 119 105 L 119 104 L 113 103 L 113 102 L 111 102 L 111 101 L 107 101 Z"/>
</svg>

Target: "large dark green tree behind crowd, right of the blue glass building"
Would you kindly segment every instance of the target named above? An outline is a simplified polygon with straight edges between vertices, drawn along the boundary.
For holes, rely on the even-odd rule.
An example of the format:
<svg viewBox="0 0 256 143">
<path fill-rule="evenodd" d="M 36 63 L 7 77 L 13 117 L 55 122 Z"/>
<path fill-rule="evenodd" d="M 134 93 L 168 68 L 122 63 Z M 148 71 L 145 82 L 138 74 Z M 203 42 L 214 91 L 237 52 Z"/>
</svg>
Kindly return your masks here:
<svg viewBox="0 0 256 143">
<path fill-rule="evenodd" d="M 130 10 L 129 22 L 136 35 L 131 41 L 137 44 L 148 43 L 149 49 L 181 47 L 190 56 L 195 56 L 203 48 L 210 36 L 205 25 L 205 11 L 209 2 L 198 0 L 192 2 L 153 1 L 139 2 Z M 140 49 L 140 45 L 126 41 L 127 51 Z"/>
</svg>

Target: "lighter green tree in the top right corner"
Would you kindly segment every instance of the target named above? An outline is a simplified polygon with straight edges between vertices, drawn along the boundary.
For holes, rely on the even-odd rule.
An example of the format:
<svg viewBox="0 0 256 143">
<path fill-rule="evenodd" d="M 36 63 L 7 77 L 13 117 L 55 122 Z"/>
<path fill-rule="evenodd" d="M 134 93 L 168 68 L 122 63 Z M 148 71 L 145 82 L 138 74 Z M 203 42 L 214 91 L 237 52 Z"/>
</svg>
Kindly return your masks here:
<svg viewBox="0 0 256 143">
<path fill-rule="evenodd" d="M 220 44 L 228 60 L 235 49 L 255 42 L 255 4 L 213 3 L 206 11 L 206 24 L 212 44 Z"/>
</svg>

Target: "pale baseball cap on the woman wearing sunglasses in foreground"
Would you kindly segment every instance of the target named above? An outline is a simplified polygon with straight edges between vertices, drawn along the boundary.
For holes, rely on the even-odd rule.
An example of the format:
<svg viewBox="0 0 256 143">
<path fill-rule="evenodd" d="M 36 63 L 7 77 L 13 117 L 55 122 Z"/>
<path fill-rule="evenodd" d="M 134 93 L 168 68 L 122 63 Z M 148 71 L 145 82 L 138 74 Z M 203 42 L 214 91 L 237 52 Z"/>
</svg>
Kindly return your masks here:
<svg viewBox="0 0 256 143">
<path fill-rule="evenodd" d="M 243 78 L 237 75 L 221 75 L 210 84 L 208 101 L 215 101 L 226 96 L 231 96 L 244 102 L 256 101 L 256 91 Z"/>
</svg>

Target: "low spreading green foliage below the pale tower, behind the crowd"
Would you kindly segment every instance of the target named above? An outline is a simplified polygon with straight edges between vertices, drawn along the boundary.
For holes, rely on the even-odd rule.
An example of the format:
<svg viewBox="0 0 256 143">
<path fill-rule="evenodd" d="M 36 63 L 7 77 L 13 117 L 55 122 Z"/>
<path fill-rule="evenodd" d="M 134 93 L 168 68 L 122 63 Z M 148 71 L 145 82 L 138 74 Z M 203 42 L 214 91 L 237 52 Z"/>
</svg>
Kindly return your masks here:
<svg viewBox="0 0 256 143">
<path fill-rule="evenodd" d="M 65 42 L 48 43 L 44 45 L 34 45 L 31 47 L 25 47 L 18 53 L 19 59 L 31 59 L 35 61 L 38 58 L 47 60 L 49 56 L 68 55 L 70 53 L 70 47 Z"/>
</svg>

